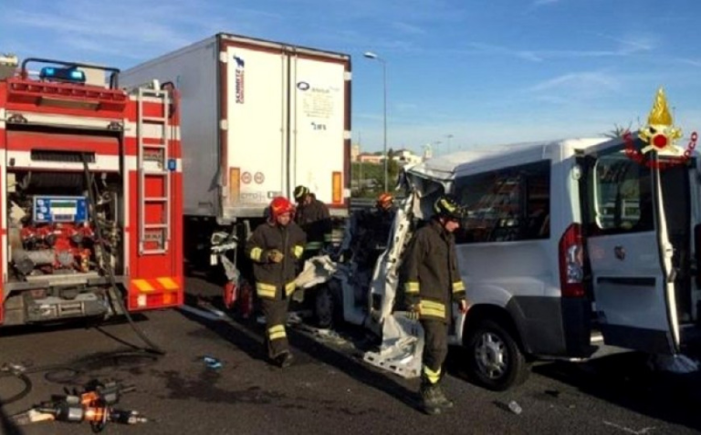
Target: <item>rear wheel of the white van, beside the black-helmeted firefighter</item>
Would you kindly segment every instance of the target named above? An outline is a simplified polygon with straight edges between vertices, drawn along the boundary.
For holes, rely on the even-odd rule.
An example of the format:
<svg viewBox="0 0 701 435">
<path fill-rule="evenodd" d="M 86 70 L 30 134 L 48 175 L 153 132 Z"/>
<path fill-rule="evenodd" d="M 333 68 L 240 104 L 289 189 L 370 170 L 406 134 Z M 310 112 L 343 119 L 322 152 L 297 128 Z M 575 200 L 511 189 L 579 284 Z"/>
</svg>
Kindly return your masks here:
<svg viewBox="0 0 701 435">
<path fill-rule="evenodd" d="M 530 367 L 518 343 L 499 322 L 483 320 L 466 337 L 469 377 L 493 391 L 522 384 Z"/>
</svg>

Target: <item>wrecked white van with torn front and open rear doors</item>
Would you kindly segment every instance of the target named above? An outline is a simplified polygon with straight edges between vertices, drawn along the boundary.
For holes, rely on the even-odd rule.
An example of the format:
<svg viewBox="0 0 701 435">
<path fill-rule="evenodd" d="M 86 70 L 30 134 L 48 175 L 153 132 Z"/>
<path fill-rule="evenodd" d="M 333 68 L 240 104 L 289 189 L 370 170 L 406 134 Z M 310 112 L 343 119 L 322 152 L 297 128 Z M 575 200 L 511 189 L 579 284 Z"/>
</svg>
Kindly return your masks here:
<svg viewBox="0 0 701 435">
<path fill-rule="evenodd" d="M 411 233 L 444 192 L 467 210 L 456 245 L 471 306 L 465 316 L 454 307 L 451 342 L 467 347 L 471 378 L 507 389 L 527 377 L 534 359 L 591 357 L 597 336 L 652 354 L 685 349 L 699 316 L 701 170 L 696 153 L 666 169 L 656 154 L 635 161 L 626 152 L 633 144 L 643 145 L 609 138 L 518 144 L 405 172 L 412 200 L 395 232 L 404 220 Z M 394 248 L 375 271 L 376 281 L 392 286 L 402 251 Z M 371 312 L 388 304 L 378 288 Z"/>
</svg>

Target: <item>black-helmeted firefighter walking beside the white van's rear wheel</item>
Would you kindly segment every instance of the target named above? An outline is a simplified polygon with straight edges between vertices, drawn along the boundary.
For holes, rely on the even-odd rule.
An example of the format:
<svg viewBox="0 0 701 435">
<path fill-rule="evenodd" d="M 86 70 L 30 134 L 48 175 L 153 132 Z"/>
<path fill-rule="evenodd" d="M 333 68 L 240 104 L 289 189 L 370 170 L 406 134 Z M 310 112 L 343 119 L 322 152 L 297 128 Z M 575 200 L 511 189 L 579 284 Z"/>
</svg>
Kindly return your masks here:
<svg viewBox="0 0 701 435">
<path fill-rule="evenodd" d="M 420 395 L 424 412 L 451 408 L 439 386 L 448 353 L 448 324 L 455 302 L 467 311 L 465 285 L 457 270 L 455 236 L 463 210 L 450 195 L 434 203 L 431 222 L 414 235 L 403 264 L 405 302 L 424 327 L 424 355 Z"/>
</svg>

